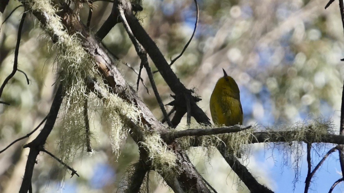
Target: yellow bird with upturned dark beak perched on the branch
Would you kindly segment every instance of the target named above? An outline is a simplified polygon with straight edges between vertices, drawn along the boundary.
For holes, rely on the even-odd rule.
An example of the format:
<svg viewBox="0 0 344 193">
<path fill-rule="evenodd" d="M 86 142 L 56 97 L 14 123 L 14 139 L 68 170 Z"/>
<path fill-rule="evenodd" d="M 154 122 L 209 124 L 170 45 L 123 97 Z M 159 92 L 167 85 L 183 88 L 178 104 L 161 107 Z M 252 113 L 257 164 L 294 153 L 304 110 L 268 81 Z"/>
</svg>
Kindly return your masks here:
<svg viewBox="0 0 344 193">
<path fill-rule="evenodd" d="M 210 113 L 214 124 L 242 125 L 243 108 L 240 103 L 240 91 L 235 80 L 228 76 L 224 69 L 224 77 L 218 79 L 210 97 Z"/>
</svg>

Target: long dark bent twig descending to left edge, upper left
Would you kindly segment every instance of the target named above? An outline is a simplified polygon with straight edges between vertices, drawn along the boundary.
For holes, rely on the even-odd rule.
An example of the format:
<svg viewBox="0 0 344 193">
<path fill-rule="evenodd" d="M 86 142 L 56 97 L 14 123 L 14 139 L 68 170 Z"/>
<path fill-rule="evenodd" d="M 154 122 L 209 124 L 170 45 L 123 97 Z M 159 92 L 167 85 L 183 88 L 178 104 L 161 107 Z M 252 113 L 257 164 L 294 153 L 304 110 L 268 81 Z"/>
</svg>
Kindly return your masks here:
<svg viewBox="0 0 344 193">
<path fill-rule="evenodd" d="M 14 63 L 13 63 L 13 70 L 6 77 L 6 79 L 3 81 L 1 87 L 0 87 L 0 97 L 2 95 L 3 89 L 5 88 L 7 82 L 14 76 L 15 72 L 18 70 L 18 53 L 19 53 L 19 45 L 20 45 L 20 39 L 21 39 L 21 31 L 23 29 L 24 21 L 25 21 L 26 13 L 24 12 L 22 15 L 22 18 L 20 20 L 20 24 L 18 27 L 18 35 L 17 35 L 17 44 L 15 45 L 15 50 L 14 50 Z"/>
</svg>

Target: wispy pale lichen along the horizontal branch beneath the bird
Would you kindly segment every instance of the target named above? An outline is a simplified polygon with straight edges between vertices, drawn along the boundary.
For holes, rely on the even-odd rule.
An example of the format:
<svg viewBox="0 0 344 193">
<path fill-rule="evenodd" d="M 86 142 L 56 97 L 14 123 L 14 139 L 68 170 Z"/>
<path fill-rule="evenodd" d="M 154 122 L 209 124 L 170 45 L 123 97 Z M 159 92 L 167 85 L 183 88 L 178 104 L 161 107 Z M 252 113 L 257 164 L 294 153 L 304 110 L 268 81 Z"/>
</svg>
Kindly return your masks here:
<svg viewBox="0 0 344 193">
<path fill-rule="evenodd" d="M 208 125 L 192 125 L 189 128 L 209 128 Z M 217 127 L 217 126 L 210 126 L 210 127 Z M 271 133 L 271 137 L 267 138 L 266 141 L 269 141 L 270 138 L 278 138 L 282 136 L 276 136 L 276 131 L 293 131 L 290 132 L 290 135 L 284 135 L 283 138 L 286 139 L 287 144 L 286 147 L 283 149 L 284 151 L 288 151 L 288 155 L 295 154 L 298 152 L 300 147 L 296 147 L 301 144 L 302 141 L 309 141 L 310 143 L 313 142 L 320 142 L 326 134 L 333 133 L 335 125 L 331 120 L 323 120 L 321 118 L 315 120 L 308 120 L 303 122 L 297 122 L 293 125 L 281 125 L 280 127 L 265 127 L 266 132 L 275 132 Z M 255 138 L 254 131 L 259 130 L 258 126 L 253 126 L 251 129 L 243 130 L 237 133 L 228 133 L 228 134 L 218 134 L 218 135 L 208 135 L 208 136 L 201 136 L 197 137 L 198 142 L 200 142 L 201 147 L 205 147 L 205 150 L 209 157 L 214 152 L 213 147 L 218 147 L 221 144 L 225 144 L 227 147 L 227 151 L 231 155 L 239 155 L 242 148 L 245 150 L 249 150 L 247 144 L 250 144 L 251 140 Z M 261 129 L 260 129 L 261 130 Z M 307 134 L 307 135 L 306 135 Z M 191 141 L 194 141 L 195 137 L 182 137 L 178 139 L 178 142 L 182 145 L 184 149 L 189 149 Z M 280 143 L 279 143 L 280 144 Z M 294 145 L 290 145 L 294 144 Z M 296 146 L 295 146 L 296 145 Z M 323 144 L 316 143 L 316 146 L 320 146 Z M 241 146 L 241 147 L 240 147 Z M 301 155 L 300 155 L 301 156 Z M 247 156 L 245 156 L 247 157 Z M 302 157 L 302 156 L 301 156 Z"/>
</svg>

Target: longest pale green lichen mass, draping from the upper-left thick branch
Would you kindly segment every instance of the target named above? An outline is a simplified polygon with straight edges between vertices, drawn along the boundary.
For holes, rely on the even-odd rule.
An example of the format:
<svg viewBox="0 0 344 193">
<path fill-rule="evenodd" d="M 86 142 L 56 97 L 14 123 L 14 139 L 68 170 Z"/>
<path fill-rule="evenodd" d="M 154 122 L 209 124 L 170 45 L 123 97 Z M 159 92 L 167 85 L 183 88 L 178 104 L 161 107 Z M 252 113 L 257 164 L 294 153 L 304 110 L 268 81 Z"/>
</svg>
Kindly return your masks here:
<svg viewBox="0 0 344 193">
<path fill-rule="evenodd" d="M 45 18 L 43 21 L 46 21 L 42 25 L 43 30 L 56 38 L 53 46 L 57 50 L 55 70 L 64 88 L 64 115 L 58 144 L 62 160 L 72 161 L 77 150 L 83 149 L 86 144 L 83 117 L 84 102 L 88 97 L 86 79 L 99 76 L 93 68 L 95 62 L 81 46 L 80 39 L 64 30 L 60 17 L 55 14 L 53 2 L 32 0 L 23 3 L 31 9 L 30 12 L 42 14 Z"/>
</svg>

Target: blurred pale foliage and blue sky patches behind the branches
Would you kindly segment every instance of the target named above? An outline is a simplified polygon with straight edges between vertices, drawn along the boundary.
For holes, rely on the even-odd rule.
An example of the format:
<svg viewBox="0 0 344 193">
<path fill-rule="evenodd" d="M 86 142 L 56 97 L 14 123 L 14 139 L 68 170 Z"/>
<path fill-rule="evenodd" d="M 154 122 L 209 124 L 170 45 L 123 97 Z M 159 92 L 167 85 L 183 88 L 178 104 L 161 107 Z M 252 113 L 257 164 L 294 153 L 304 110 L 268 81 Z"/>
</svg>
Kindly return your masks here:
<svg viewBox="0 0 344 193">
<path fill-rule="evenodd" d="M 344 45 L 337 3 L 325 10 L 327 2 L 320 0 L 197 2 L 200 21 L 196 35 L 172 69 L 187 88 L 193 88 L 195 94 L 201 96 L 202 101 L 198 104 L 209 117 L 209 98 L 217 79 L 223 76 L 223 68 L 239 85 L 244 125 L 292 124 L 317 117 L 331 118 L 339 125 L 344 75 L 340 59 L 344 57 Z M 11 0 L 5 13 L 0 15 L 0 21 L 19 4 Z M 112 4 L 97 1 L 94 6 L 92 33 L 106 20 Z M 143 11 L 137 16 L 170 61 L 181 52 L 193 32 L 196 20 L 194 1 L 143 0 L 142 7 Z M 19 8 L 1 25 L 1 83 L 12 70 L 22 12 L 23 8 Z M 85 4 L 80 12 L 80 20 L 84 23 L 87 14 Z M 139 58 L 121 24 L 110 31 L 103 43 L 123 63 L 139 69 Z M 11 105 L 0 104 L 0 148 L 29 133 L 49 111 L 57 76 L 53 70 L 54 58 L 54 46 L 39 28 L 37 20 L 29 15 L 22 31 L 18 67 L 28 75 L 30 84 L 27 85 L 24 75 L 17 72 L 5 87 L 1 100 Z M 151 61 L 150 64 L 155 70 Z M 118 67 L 127 81 L 136 87 L 137 75 L 125 65 Z M 144 70 L 142 78 L 153 93 Z M 159 73 L 155 73 L 154 79 L 164 104 L 172 101 L 170 94 L 173 93 Z M 162 113 L 154 95 L 148 94 L 141 83 L 139 94 L 154 115 L 161 119 Z M 123 141 L 117 159 L 112 154 L 108 131 L 102 127 L 106 120 L 102 120 L 99 113 L 91 114 L 90 125 L 95 133 L 92 148 L 97 153 L 92 156 L 85 153 L 75 158 L 72 166 L 80 177 L 69 179 L 67 174 L 63 179 L 61 166 L 46 154 L 40 154 L 32 180 L 35 192 L 107 193 L 116 192 L 128 183 L 123 174 L 138 160 L 136 144 L 130 138 Z M 185 124 L 184 120 L 181 126 Z M 58 124 L 55 127 L 46 148 L 58 154 Z M 37 133 L 0 154 L 0 192 L 19 190 L 28 155 L 28 150 L 21 147 Z M 261 145 L 254 146 L 254 151 L 260 148 Z M 218 192 L 248 192 L 217 153 L 207 158 L 201 148 L 189 152 L 193 163 Z M 259 181 L 276 192 L 283 192 L 271 172 L 267 172 L 268 167 L 258 162 L 255 155 L 251 155 L 247 164 Z M 170 192 L 155 172 L 151 172 L 149 179 L 150 192 Z"/>
</svg>

